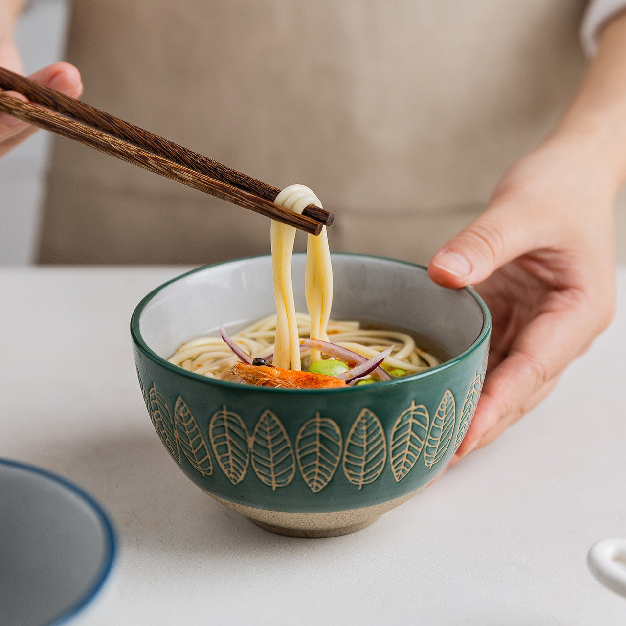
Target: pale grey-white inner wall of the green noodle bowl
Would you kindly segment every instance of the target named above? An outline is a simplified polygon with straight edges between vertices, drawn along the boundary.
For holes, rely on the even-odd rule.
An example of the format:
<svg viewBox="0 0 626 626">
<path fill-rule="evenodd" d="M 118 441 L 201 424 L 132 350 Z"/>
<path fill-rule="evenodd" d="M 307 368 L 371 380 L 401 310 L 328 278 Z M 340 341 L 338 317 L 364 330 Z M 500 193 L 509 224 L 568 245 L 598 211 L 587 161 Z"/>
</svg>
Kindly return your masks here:
<svg viewBox="0 0 626 626">
<path fill-rule="evenodd" d="M 305 256 L 294 255 L 296 309 L 305 312 Z M 457 356 L 483 329 L 483 312 L 468 290 L 435 285 L 425 270 L 389 259 L 333 255 L 332 319 L 402 327 Z M 241 259 L 193 272 L 167 285 L 146 304 L 140 333 L 151 350 L 169 357 L 182 342 L 237 329 L 275 312 L 269 257 Z"/>
</svg>

